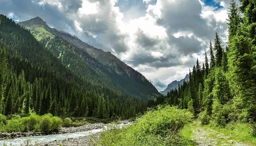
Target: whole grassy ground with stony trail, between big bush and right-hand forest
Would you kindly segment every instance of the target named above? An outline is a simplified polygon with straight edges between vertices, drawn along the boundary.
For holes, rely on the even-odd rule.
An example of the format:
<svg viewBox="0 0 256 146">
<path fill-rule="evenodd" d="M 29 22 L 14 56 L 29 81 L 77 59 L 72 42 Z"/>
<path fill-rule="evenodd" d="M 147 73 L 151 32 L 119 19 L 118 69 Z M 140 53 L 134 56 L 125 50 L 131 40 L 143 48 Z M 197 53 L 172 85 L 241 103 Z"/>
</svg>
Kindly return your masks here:
<svg viewBox="0 0 256 146">
<path fill-rule="evenodd" d="M 187 124 L 181 134 L 193 140 L 197 146 L 255 146 L 254 138 L 245 141 L 244 137 L 240 137 L 241 132 L 226 131 L 202 125 L 201 122 L 195 120 Z"/>
</svg>

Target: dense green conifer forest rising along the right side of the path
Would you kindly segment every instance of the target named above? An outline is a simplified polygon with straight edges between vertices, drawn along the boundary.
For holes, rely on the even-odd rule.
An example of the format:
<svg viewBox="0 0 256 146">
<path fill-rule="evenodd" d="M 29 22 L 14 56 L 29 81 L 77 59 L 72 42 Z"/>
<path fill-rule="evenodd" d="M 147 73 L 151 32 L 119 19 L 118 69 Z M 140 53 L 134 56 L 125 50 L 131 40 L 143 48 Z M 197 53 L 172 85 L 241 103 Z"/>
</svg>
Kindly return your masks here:
<svg viewBox="0 0 256 146">
<path fill-rule="evenodd" d="M 228 42 L 222 45 L 217 32 L 205 61 L 198 59 L 189 81 L 166 96 L 150 100 L 149 106 L 164 101 L 187 108 L 203 123 L 225 127 L 230 122 L 248 122 L 256 135 L 256 11 L 255 1 L 231 0 L 228 13 Z M 207 52 L 208 52 L 207 51 Z M 200 113 L 200 114 L 199 114 Z"/>
</svg>

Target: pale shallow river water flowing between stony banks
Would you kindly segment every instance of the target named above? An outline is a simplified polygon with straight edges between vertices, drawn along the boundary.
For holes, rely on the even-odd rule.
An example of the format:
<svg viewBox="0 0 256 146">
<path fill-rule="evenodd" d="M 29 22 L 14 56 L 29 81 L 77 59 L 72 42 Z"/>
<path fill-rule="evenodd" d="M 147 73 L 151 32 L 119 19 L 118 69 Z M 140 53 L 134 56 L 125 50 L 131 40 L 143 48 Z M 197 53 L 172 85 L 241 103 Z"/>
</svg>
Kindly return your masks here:
<svg viewBox="0 0 256 146">
<path fill-rule="evenodd" d="M 120 128 L 123 127 L 124 125 L 129 125 L 132 124 L 132 122 L 129 122 L 127 124 L 120 124 Z M 85 137 L 90 134 L 95 134 L 98 132 L 101 132 L 103 128 L 101 129 L 94 129 L 90 131 L 82 131 L 82 132 L 74 132 L 74 133 L 65 133 L 65 134 L 53 134 L 53 135 L 40 135 L 40 136 L 33 136 L 33 137 L 20 137 L 20 138 L 15 138 L 11 140 L 2 140 L 0 141 L 0 146 L 3 146 L 4 144 L 6 145 L 11 145 L 12 146 L 20 146 L 24 144 L 24 142 L 29 138 L 31 141 L 31 144 L 34 144 L 35 142 L 37 143 L 45 143 L 45 142 L 52 142 L 52 141 L 59 141 L 59 140 L 64 140 L 68 138 L 78 138 L 78 137 Z"/>
</svg>

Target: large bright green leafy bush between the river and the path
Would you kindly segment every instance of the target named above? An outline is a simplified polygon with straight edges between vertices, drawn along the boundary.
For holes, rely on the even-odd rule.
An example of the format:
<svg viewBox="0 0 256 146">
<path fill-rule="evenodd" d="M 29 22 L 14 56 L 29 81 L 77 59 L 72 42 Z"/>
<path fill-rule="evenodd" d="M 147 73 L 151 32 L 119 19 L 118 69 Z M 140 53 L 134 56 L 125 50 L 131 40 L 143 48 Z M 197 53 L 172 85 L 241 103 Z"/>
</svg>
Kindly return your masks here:
<svg viewBox="0 0 256 146">
<path fill-rule="evenodd" d="M 158 107 L 149 110 L 136 123 L 120 129 L 112 124 L 101 133 L 98 146 L 184 146 L 192 145 L 180 136 L 181 128 L 193 115 L 177 107 Z"/>
</svg>

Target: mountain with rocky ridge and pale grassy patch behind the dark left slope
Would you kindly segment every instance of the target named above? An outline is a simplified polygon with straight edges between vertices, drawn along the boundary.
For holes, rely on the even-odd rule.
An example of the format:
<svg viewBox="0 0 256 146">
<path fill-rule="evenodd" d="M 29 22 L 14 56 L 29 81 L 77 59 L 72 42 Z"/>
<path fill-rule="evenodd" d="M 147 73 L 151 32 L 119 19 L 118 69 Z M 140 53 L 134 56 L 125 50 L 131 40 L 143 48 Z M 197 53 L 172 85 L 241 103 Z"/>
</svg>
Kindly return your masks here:
<svg viewBox="0 0 256 146">
<path fill-rule="evenodd" d="M 39 17 L 18 24 L 30 30 L 39 42 L 78 76 L 142 99 L 159 94 L 142 74 L 110 52 L 82 42 L 76 36 L 50 28 Z"/>
</svg>

